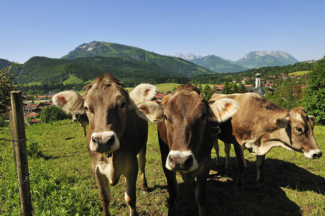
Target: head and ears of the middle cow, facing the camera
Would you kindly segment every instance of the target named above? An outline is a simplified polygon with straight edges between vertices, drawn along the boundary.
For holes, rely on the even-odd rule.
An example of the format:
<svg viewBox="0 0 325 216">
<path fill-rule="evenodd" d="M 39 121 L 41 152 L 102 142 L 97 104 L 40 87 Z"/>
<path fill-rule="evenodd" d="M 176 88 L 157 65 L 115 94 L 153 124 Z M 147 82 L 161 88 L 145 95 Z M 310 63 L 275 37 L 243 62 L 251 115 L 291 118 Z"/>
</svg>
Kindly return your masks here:
<svg viewBox="0 0 325 216">
<path fill-rule="evenodd" d="M 166 126 L 169 145 L 166 168 L 190 172 L 198 167 L 197 153 L 207 121 L 226 121 L 237 111 L 238 103 L 227 98 L 209 104 L 200 96 L 200 90 L 189 83 L 163 97 L 160 104 L 149 101 L 138 108 L 142 118 L 161 121 L 159 124 Z"/>
</svg>

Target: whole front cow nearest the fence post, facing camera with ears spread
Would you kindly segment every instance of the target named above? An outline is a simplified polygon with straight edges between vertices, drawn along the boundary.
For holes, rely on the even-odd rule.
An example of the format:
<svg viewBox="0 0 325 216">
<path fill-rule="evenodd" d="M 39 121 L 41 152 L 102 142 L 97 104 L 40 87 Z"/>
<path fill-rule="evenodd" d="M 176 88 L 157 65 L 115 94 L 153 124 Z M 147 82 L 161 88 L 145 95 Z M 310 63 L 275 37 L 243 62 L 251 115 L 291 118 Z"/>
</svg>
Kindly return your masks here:
<svg viewBox="0 0 325 216">
<path fill-rule="evenodd" d="M 130 215 L 136 213 L 136 178 L 141 172 L 141 190 L 147 192 L 145 177 L 148 122 L 137 115 L 136 104 L 149 101 L 157 88 L 141 84 L 127 93 L 122 82 L 111 74 L 103 74 L 86 85 L 82 97 L 72 91 L 54 96 L 54 103 L 71 113 L 86 111 L 88 126 L 88 152 L 91 168 L 99 189 L 103 215 L 110 215 L 110 189 L 125 176 L 125 201 Z M 139 161 L 136 155 L 139 154 Z M 139 162 L 139 163 L 138 163 Z M 138 165 L 139 164 L 139 165 Z"/>
</svg>

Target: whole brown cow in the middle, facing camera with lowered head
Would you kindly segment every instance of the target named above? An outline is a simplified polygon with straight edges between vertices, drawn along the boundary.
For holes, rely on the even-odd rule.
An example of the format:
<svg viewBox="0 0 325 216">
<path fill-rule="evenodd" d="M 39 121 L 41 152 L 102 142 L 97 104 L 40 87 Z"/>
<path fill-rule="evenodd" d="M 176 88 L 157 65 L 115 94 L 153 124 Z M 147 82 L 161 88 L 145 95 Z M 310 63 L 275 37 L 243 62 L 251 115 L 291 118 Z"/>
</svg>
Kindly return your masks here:
<svg viewBox="0 0 325 216">
<path fill-rule="evenodd" d="M 209 104 L 200 90 L 188 83 L 162 98 L 161 103 L 138 105 L 139 115 L 158 122 L 158 141 L 165 173 L 170 207 L 168 215 L 176 215 L 179 172 L 187 186 L 195 184 L 195 197 L 200 215 L 206 215 L 206 181 L 210 171 L 213 135 L 210 121 L 226 121 L 238 109 L 236 101 L 218 100 Z"/>
</svg>

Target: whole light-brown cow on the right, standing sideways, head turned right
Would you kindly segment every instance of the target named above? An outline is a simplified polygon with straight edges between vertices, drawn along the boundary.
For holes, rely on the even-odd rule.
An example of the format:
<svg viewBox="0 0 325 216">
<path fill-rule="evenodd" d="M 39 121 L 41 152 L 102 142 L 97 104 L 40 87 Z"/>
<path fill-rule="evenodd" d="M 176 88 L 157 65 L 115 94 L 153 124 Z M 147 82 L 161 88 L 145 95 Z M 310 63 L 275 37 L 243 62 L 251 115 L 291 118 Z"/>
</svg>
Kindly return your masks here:
<svg viewBox="0 0 325 216">
<path fill-rule="evenodd" d="M 246 168 L 244 149 L 256 155 L 257 185 L 260 190 L 266 189 L 263 166 L 265 155 L 272 147 L 282 146 L 304 153 L 305 157 L 310 159 L 321 157 L 322 152 L 313 133 L 315 117 L 307 116 L 303 107 L 284 109 L 256 93 L 214 94 L 210 101 L 225 98 L 236 100 L 240 106 L 230 120 L 220 123 L 221 132 L 217 135 L 217 138 L 225 143 L 227 173 L 231 172 L 230 143 L 234 146 L 239 172 L 237 189 L 243 190 L 242 176 Z M 218 162 L 219 146 L 216 138 L 214 149 Z"/>
</svg>

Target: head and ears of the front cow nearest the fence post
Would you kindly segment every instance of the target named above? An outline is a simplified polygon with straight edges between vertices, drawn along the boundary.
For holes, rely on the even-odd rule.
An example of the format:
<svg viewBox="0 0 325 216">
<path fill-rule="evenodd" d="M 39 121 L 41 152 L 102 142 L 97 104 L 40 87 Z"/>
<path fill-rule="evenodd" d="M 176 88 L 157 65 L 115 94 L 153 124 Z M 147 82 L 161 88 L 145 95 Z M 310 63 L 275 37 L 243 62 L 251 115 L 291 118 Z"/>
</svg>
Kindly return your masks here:
<svg viewBox="0 0 325 216">
<path fill-rule="evenodd" d="M 136 104 L 150 100 L 157 92 L 153 85 L 140 84 L 128 93 L 123 83 L 111 74 L 103 74 L 85 87 L 84 97 L 64 91 L 55 95 L 53 102 L 72 114 L 86 111 L 91 132 L 88 144 L 90 150 L 99 153 L 110 153 L 120 147 L 127 109 L 136 109 Z"/>
</svg>

